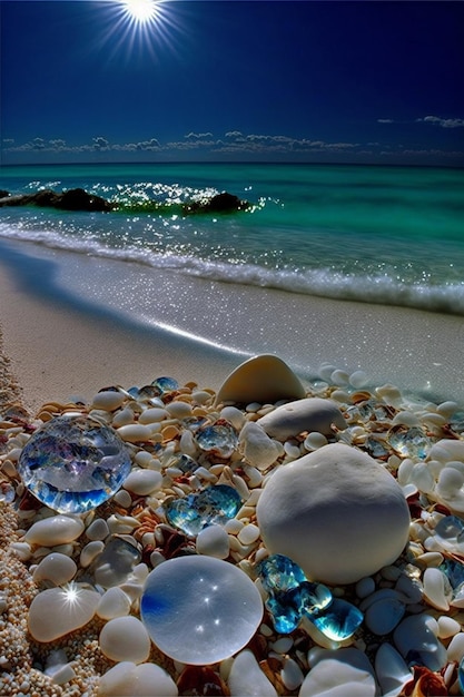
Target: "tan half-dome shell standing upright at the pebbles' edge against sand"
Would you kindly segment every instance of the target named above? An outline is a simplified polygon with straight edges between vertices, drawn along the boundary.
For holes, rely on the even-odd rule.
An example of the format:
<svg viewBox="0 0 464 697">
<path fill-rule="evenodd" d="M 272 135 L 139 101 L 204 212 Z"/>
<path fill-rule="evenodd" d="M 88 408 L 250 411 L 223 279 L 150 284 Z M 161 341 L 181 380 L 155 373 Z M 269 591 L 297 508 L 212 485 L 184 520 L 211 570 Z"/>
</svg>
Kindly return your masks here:
<svg viewBox="0 0 464 697">
<path fill-rule="evenodd" d="M 265 404 L 304 396 L 305 389 L 288 365 L 277 356 L 263 354 L 245 361 L 226 377 L 218 390 L 215 404 Z"/>
</svg>

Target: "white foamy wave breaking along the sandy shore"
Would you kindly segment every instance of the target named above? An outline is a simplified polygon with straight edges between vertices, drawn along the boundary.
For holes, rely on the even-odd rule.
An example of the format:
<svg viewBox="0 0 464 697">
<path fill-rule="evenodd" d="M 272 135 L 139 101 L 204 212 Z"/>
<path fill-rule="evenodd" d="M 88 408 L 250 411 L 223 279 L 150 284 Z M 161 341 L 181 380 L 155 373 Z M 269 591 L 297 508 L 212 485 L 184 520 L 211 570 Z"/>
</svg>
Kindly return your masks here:
<svg viewBox="0 0 464 697">
<path fill-rule="evenodd" d="M 30 230 L 0 224 L 0 236 L 52 249 L 142 264 L 198 278 L 237 285 L 275 288 L 333 300 L 394 305 L 430 312 L 464 315 L 464 282 L 445 284 L 406 283 L 392 275 L 362 271 L 343 273 L 328 267 L 269 268 L 250 263 L 203 259 L 194 255 L 159 254 L 138 247 L 113 248 L 98 239 L 70 237 L 57 232 Z"/>
</svg>

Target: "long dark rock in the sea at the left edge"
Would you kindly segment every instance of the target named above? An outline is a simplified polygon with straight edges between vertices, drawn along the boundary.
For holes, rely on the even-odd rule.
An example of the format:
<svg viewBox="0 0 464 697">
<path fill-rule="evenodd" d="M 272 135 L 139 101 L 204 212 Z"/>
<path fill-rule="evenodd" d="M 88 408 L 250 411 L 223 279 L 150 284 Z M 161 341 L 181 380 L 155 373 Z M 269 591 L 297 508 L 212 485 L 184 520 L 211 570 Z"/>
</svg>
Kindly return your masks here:
<svg viewBox="0 0 464 697">
<path fill-rule="evenodd" d="M 60 210 L 112 210 L 113 205 L 100 196 L 88 194 L 83 189 L 69 189 L 57 194 L 50 189 L 24 194 L 23 196 L 0 197 L 0 206 L 39 206 Z"/>
</svg>

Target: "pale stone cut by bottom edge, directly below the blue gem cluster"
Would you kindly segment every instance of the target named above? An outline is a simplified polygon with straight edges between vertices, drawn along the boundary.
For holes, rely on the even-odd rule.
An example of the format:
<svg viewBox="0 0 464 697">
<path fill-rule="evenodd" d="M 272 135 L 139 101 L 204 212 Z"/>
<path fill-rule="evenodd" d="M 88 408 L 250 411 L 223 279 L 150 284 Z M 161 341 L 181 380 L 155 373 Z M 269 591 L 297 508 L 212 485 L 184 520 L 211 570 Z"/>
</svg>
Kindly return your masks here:
<svg viewBox="0 0 464 697">
<path fill-rule="evenodd" d="M 375 678 L 365 654 L 340 648 L 319 649 L 316 655 L 319 659 L 305 677 L 298 697 L 375 697 Z"/>
</svg>

